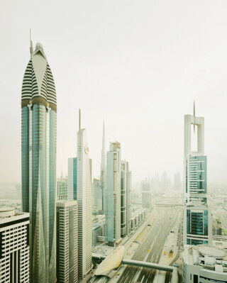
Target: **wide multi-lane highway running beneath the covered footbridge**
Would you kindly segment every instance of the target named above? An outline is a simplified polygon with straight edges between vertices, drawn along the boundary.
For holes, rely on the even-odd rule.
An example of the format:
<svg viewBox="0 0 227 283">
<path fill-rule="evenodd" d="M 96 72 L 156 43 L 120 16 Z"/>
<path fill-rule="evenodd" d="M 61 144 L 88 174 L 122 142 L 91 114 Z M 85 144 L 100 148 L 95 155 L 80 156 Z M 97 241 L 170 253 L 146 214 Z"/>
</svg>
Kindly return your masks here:
<svg viewBox="0 0 227 283">
<path fill-rule="evenodd" d="M 167 235 L 177 221 L 181 209 L 174 207 L 158 208 L 158 216 L 153 227 L 148 232 L 145 240 L 141 243 L 132 257 L 132 260 L 143 260 L 158 263 L 165 245 Z M 150 250 L 150 251 L 148 251 Z M 140 282 L 150 283 L 155 278 L 157 270 L 138 267 L 126 267 L 118 279 L 118 283 Z M 168 278 L 170 280 L 170 278 Z"/>
</svg>

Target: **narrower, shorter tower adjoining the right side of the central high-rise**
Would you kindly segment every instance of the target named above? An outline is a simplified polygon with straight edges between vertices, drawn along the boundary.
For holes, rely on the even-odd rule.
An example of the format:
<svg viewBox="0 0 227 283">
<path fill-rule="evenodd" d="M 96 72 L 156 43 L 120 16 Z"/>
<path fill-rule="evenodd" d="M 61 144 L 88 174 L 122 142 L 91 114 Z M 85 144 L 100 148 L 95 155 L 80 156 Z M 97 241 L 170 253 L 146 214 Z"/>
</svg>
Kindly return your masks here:
<svg viewBox="0 0 227 283">
<path fill-rule="evenodd" d="M 121 238 L 131 233 L 131 171 L 121 161 Z"/>
</svg>

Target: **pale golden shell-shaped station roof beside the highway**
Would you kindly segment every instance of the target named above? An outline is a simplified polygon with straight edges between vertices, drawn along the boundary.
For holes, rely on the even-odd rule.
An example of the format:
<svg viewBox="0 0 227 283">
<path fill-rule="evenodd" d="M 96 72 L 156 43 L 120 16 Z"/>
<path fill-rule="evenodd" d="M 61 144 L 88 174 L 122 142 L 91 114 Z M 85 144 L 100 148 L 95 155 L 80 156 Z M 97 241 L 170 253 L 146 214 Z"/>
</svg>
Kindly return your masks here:
<svg viewBox="0 0 227 283">
<path fill-rule="evenodd" d="M 116 269 L 121 265 L 123 260 L 123 255 L 125 253 L 125 248 L 123 246 L 116 248 L 112 253 L 110 253 L 99 267 L 94 272 L 94 275 L 105 275 L 106 272 Z"/>
</svg>

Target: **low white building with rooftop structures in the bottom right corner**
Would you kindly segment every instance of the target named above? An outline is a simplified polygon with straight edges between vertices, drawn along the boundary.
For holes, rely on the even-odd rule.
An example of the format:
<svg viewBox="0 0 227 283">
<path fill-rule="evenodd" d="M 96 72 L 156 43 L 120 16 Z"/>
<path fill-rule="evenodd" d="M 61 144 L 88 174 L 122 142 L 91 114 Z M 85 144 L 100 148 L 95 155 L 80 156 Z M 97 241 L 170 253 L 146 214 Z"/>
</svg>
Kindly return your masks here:
<svg viewBox="0 0 227 283">
<path fill-rule="evenodd" d="M 213 246 L 185 245 L 182 255 L 185 283 L 227 282 L 226 251 Z"/>
</svg>

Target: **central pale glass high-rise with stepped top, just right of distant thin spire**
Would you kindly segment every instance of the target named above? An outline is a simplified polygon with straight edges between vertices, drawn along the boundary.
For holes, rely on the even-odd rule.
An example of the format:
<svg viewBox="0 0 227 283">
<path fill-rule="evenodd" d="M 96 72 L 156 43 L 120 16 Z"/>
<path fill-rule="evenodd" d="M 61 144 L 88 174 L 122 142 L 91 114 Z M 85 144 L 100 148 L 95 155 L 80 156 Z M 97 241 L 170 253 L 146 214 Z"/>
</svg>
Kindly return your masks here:
<svg viewBox="0 0 227 283">
<path fill-rule="evenodd" d="M 110 143 L 106 160 L 105 236 L 116 246 L 121 240 L 121 143 Z"/>
</svg>

